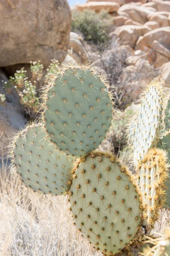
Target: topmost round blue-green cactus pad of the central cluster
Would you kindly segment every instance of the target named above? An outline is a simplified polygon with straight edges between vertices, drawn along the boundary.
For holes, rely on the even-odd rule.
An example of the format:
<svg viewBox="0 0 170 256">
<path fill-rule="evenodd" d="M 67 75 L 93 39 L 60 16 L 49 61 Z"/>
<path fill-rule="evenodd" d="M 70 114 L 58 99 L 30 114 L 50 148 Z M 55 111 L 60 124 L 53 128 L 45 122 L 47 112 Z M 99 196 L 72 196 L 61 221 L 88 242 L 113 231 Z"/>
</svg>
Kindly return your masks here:
<svg viewBox="0 0 170 256">
<path fill-rule="evenodd" d="M 44 96 L 43 120 L 59 151 L 81 157 L 96 149 L 109 131 L 111 94 L 97 70 L 67 67 Z"/>
</svg>

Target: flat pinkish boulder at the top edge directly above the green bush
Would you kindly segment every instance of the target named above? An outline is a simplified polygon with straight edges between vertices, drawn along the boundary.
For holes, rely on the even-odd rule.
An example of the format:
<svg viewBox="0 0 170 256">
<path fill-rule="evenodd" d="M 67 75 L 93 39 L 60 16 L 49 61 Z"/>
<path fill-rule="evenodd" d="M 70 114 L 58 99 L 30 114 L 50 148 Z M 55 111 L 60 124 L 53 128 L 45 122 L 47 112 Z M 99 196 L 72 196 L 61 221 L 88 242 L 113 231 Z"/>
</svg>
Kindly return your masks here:
<svg viewBox="0 0 170 256">
<path fill-rule="evenodd" d="M 107 11 L 107 12 L 116 12 L 119 9 L 119 4 L 115 2 L 88 2 L 84 4 L 78 4 L 77 10 L 82 12 L 85 9 L 93 10 L 95 12 Z"/>
</svg>

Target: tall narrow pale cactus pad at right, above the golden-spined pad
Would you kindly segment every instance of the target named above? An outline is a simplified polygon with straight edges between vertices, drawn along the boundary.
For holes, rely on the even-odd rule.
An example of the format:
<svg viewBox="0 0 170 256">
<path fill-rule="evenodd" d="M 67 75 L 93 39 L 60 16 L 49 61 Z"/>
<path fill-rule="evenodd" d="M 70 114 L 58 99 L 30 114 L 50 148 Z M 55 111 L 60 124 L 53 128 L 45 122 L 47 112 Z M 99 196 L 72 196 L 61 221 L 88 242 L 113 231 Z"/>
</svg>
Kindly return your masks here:
<svg viewBox="0 0 170 256">
<path fill-rule="evenodd" d="M 151 84 L 144 93 L 139 113 L 130 126 L 129 137 L 132 140 L 135 166 L 144 158 L 148 149 L 156 145 L 160 132 L 161 115 L 161 90 L 158 84 Z"/>
</svg>

